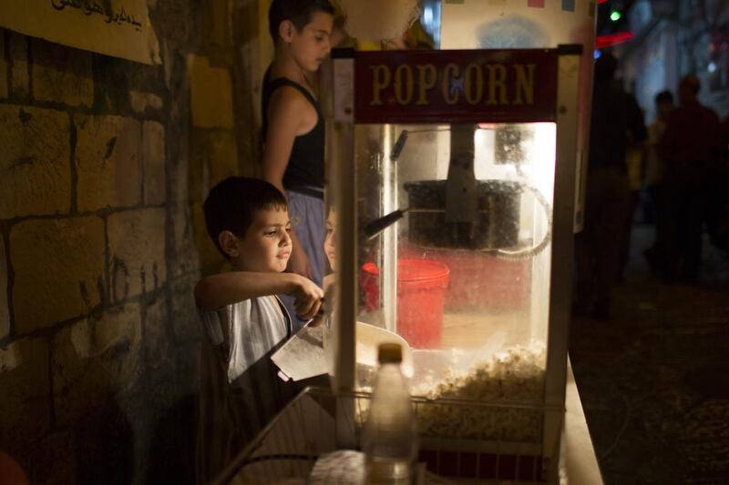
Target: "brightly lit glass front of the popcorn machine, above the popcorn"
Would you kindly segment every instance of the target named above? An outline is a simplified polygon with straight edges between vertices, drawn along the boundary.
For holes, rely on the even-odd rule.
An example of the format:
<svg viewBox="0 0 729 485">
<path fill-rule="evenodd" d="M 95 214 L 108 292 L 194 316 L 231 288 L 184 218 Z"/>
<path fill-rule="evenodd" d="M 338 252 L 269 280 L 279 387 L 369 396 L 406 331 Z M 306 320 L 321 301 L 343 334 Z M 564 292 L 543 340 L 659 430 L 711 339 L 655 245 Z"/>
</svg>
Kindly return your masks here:
<svg viewBox="0 0 729 485">
<path fill-rule="evenodd" d="M 553 123 L 354 127 L 357 319 L 405 338 L 416 393 L 515 346 L 543 359 L 555 136 Z"/>
</svg>

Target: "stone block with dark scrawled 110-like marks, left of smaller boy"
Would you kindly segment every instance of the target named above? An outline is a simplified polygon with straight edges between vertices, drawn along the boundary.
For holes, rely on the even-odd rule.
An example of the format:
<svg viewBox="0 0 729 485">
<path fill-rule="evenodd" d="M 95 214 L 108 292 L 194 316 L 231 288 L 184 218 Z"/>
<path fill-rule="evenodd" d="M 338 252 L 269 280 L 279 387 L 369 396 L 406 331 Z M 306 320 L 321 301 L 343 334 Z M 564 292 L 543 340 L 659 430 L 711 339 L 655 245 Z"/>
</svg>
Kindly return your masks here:
<svg viewBox="0 0 729 485">
<path fill-rule="evenodd" d="M 118 212 L 108 217 L 112 301 L 160 288 L 167 278 L 165 209 Z"/>
</svg>

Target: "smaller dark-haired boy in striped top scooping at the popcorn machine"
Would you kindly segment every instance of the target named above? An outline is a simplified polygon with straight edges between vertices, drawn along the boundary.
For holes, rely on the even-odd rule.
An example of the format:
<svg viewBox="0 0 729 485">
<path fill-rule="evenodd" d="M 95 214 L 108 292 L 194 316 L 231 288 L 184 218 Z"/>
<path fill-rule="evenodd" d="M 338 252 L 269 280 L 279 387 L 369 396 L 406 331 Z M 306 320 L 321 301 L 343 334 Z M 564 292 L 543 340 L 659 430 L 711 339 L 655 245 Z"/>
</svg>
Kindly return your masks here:
<svg viewBox="0 0 729 485">
<path fill-rule="evenodd" d="M 200 279 L 198 483 L 208 483 L 293 399 L 269 359 L 291 336 L 291 318 L 275 297 L 295 298 L 300 318 L 318 312 L 322 289 L 283 273 L 292 253 L 286 198 L 268 182 L 230 177 L 210 190 L 205 224 L 232 270 Z"/>
</svg>

